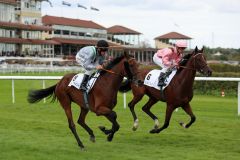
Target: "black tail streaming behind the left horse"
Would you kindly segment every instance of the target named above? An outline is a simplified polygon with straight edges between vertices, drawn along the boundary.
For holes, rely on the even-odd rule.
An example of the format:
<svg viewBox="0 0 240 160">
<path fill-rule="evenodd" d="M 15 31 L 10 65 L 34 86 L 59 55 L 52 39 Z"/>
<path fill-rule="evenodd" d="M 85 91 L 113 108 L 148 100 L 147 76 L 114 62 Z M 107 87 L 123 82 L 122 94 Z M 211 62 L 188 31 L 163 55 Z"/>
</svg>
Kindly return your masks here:
<svg viewBox="0 0 240 160">
<path fill-rule="evenodd" d="M 56 100 L 56 95 L 54 93 L 56 86 L 57 84 L 55 84 L 54 86 L 48 87 L 46 89 L 30 90 L 28 92 L 28 102 L 36 103 L 46 97 L 48 98 L 52 97 L 51 102 L 54 102 Z"/>
</svg>

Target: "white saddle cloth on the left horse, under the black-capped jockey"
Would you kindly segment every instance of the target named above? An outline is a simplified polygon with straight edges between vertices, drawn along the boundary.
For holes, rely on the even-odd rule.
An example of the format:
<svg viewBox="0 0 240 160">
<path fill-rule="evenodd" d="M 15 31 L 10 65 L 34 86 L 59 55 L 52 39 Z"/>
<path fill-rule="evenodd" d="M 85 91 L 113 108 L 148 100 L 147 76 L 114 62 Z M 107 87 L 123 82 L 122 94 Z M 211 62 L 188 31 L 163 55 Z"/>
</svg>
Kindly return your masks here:
<svg viewBox="0 0 240 160">
<path fill-rule="evenodd" d="M 97 78 L 99 77 L 100 73 L 96 72 L 94 74 L 94 76 L 91 77 L 91 79 L 88 81 L 87 83 L 87 93 L 90 92 L 90 90 L 92 89 L 92 87 L 94 86 L 95 82 L 97 81 Z M 76 74 L 75 76 L 73 76 L 71 82 L 68 84 L 68 86 L 73 86 L 77 89 L 80 88 L 81 84 L 82 84 L 82 80 L 83 80 L 83 74 Z"/>
</svg>

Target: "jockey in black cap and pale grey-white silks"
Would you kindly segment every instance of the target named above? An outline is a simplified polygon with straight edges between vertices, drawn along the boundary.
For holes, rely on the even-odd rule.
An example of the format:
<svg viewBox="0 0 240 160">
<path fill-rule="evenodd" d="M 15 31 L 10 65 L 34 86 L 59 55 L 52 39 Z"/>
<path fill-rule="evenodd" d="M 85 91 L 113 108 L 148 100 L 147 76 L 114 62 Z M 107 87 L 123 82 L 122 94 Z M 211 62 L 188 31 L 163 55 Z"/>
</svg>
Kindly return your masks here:
<svg viewBox="0 0 240 160">
<path fill-rule="evenodd" d="M 103 68 L 102 64 L 105 59 L 105 54 L 108 51 L 108 47 L 109 45 L 107 41 L 99 40 L 97 46 L 86 46 L 78 51 L 76 61 L 85 69 L 83 81 L 80 86 L 81 90 L 86 91 L 90 75 L 96 69 L 99 70 Z"/>
</svg>

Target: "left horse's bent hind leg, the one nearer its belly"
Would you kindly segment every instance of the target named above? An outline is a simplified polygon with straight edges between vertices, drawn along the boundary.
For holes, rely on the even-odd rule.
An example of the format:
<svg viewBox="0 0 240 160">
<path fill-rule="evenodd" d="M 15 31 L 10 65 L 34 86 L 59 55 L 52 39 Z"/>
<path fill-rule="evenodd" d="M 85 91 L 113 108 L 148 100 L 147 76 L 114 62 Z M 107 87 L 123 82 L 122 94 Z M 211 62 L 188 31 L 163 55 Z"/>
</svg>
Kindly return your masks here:
<svg viewBox="0 0 240 160">
<path fill-rule="evenodd" d="M 87 110 L 87 109 L 81 108 L 81 113 L 80 113 L 79 118 L 78 118 L 78 124 L 80 124 L 88 132 L 88 134 L 90 135 L 90 140 L 92 142 L 95 142 L 95 136 L 93 134 L 93 131 L 85 123 L 85 118 L 86 118 L 86 115 L 87 115 L 88 111 L 89 110 Z"/>
</svg>

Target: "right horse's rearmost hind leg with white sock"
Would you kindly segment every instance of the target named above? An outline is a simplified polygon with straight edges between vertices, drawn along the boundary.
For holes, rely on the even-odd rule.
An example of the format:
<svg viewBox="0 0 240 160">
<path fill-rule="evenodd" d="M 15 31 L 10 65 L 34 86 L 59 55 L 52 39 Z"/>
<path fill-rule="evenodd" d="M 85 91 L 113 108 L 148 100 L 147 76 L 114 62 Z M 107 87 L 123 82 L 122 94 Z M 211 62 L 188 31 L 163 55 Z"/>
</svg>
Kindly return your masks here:
<svg viewBox="0 0 240 160">
<path fill-rule="evenodd" d="M 142 99 L 142 97 L 143 97 L 143 95 L 141 95 L 141 96 L 135 96 L 134 95 L 132 101 L 130 103 L 128 103 L 128 107 L 129 107 L 129 109 L 130 109 L 130 111 L 132 113 L 133 120 L 134 120 L 134 124 L 133 124 L 133 128 L 132 128 L 133 131 L 136 131 L 137 128 L 138 128 L 138 125 L 139 125 L 138 124 L 139 121 L 138 121 L 136 112 L 134 110 L 134 107 Z"/>
</svg>

